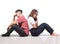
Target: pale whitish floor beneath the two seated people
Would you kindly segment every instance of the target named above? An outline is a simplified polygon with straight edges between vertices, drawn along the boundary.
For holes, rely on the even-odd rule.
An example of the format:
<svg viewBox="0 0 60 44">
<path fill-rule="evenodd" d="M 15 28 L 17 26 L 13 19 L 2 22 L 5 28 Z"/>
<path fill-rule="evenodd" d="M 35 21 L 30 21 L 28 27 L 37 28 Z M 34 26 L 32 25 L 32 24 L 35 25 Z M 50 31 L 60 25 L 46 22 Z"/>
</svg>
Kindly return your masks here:
<svg viewBox="0 0 60 44">
<path fill-rule="evenodd" d="M 60 44 L 60 36 L 40 35 L 38 37 L 19 37 L 13 35 L 10 37 L 1 37 L 0 44 Z"/>
</svg>

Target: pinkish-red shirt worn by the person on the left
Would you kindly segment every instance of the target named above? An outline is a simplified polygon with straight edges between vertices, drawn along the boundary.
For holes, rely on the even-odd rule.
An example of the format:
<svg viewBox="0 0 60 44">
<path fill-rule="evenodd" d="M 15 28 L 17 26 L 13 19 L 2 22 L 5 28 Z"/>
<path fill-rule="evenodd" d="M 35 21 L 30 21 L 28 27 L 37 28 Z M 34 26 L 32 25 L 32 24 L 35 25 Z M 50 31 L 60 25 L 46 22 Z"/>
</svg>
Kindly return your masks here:
<svg viewBox="0 0 60 44">
<path fill-rule="evenodd" d="M 25 17 L 24 16 L 19 16 L 17 21 L 18 21 L 18 23 L 23 22 L 20 28 L 23 28 L 23 30 L 25 31 L 26 34 L 29 34 L 29 26 L 28 26 L 28 22 L 25 19 Z"/>
</svg>

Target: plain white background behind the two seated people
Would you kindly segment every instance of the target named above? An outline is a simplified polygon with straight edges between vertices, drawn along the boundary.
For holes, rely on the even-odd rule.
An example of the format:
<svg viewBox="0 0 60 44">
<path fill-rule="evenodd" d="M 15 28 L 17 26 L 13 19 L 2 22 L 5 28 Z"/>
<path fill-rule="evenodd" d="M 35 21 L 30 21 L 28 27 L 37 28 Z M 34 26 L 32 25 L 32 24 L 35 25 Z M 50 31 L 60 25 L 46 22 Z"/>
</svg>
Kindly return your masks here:
<svg viewBox="0 0 60 44">
<path fill-rule="evenodd" d="M 0 0 L 0 34 L 6 32 L 17 9 L 22 9 L 26 18 L 32 9 L 37 9 L 39 24 L 48 23 L 60 34 L 60 0 Z M 49 33 L 45 30 L 43 34 Z"/>
</svg>

